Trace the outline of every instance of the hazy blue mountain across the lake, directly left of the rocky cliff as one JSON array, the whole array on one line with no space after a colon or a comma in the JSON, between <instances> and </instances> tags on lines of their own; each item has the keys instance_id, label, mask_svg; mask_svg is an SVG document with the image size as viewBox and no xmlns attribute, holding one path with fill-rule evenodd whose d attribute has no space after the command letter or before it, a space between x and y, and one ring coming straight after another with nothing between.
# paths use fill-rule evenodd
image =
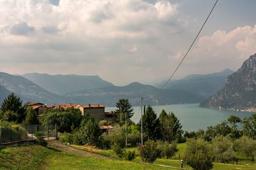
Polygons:
<instances>
[{"instance_id":1,"label":"hazy blue mountain across the lake, directly left of the rocky cliff","mask_svg":"<svg viewBox=\"0 0 256 170\"><path fill-rule=\"evenodd\" d=\"M193 94L203 96L206 99L218 92L225 83L225 78L232 73L234 73L234 71L225 69L220 73L191 74L180 80L170 81L165 89L185 90ZM166 81L163 81L154 86L159 88L163 87L165 82Z\"/></svg>"}]
</instances>

